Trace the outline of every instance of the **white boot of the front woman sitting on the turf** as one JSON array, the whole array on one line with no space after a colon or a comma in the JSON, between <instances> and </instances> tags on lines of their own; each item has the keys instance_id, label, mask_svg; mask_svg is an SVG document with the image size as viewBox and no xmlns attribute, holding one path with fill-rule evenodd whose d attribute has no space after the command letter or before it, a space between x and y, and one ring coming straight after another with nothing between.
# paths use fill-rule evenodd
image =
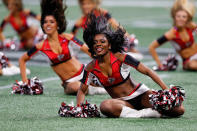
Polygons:
<instances>
[{"instance_id":1,"label":"white boot of the front woman sitting on the turf","mask_svg":"<svg viewBox=\"0 0 197 131\"><path fill-rule=\"evenodd\" d=\"M161 114L156 110L151 108L145 108L142 110L135 110L127 106L122 107L122 112L120 113L120 117L123 118L159 118Z\"/></svg>"}]
</instances>

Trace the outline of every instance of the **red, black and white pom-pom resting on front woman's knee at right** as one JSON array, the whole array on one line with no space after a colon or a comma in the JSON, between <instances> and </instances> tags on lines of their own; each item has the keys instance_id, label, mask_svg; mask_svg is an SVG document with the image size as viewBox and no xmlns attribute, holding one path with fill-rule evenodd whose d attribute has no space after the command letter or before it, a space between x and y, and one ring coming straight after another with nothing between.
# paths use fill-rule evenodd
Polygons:
<instances>
[{"instance_id":1,"label":"red, black and white pom-pom resting on front woman's knee at right","mask_svg":"<svg viewBox=\"0 0 197 131\"><path fill-rule=\"evenodd\" d=\"M149 102L157 111L168 111L180 106L185 99L185 90L180 86L171 86L169 90L152 91Z\"/></svg>"}]
</instances>

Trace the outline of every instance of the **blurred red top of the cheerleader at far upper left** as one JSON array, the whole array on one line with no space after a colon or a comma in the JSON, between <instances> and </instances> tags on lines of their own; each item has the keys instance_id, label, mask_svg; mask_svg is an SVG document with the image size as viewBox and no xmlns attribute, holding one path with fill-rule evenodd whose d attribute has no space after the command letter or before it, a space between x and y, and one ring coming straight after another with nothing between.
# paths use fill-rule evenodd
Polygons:
<instances>
[{"instance_id":1,"label":"blurred red top of the cheerleader at far upper left","mask_svg":"<svg viewBox=\"0 0 197 131\"><path fill-rule=\"evenodd\" d=\"M27 30L29 28L28 24L27 24L27 17L28 15L25 14L23 11L20 12L20 19L22 21L21 25L17 24L15 22L15 18L14 16L11 14L8 19L4 20L2 23L1 23L1 29L3 30L4 26L7 24L7 23L10 23L12 25L12 27L16 30L16 32L18 33L22 33L24 32L25 30Z\"/></svg>"}]
</instances>

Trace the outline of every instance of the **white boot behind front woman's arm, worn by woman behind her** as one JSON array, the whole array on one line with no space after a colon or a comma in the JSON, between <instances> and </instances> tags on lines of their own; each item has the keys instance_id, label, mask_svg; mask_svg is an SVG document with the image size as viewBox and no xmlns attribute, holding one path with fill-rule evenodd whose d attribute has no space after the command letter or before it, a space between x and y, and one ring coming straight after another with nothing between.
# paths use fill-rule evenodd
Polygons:
<instances>
[{"instance_id":1,"label":"white boot behind front woman's arm, worn by woman behind her","mask_svg":"<svg viewBox=\"0 0 197 131\"><path fill-rule=\"evenodd\" d=\"M89 85L88 94L89 95L102 95L102 94L107 94L107 91L103 87L94 87L94 86Z\"/></svg>"}]
</instances>

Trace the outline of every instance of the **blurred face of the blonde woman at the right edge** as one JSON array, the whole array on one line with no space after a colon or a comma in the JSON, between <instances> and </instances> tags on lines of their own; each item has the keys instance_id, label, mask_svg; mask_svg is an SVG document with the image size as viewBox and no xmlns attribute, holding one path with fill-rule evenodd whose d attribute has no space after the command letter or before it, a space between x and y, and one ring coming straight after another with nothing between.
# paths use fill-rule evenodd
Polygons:
<instances>
[{"instance_id":1,"label":"blurred face of the blonde woman at the right edge","mask_svg":"<svg viewBox=\"0 0 197 131\"><path fill-rule=\"evenodd\" d=\"M174 20L176 27L184 27L188 22L188 13L184 10L179 10L176 12Z\"/></svg>"}]
</instances>

